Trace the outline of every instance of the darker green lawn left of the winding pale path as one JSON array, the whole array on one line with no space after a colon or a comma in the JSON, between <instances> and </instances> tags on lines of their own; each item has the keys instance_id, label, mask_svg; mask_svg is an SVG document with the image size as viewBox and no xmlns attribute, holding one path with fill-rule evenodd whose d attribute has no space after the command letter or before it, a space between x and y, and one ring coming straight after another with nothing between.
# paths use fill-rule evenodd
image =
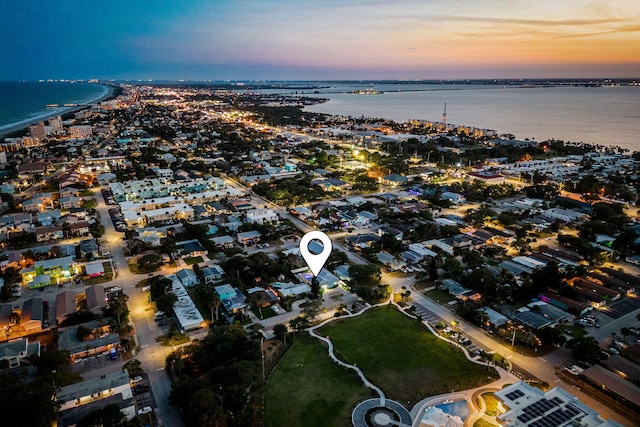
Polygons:
<instances>
[{"instance_id":1,"label":"darker green lawn left of the winding pale path","mask_svg":"<svg viewBox=\"0 0 640 427\"><path fill-rule=\"evenodd\" d=\"M351 425L353 406L371 396L355 372L331 362L320 341L298 336L267 382L265 426Z\"/></svg>"}]
</instances>

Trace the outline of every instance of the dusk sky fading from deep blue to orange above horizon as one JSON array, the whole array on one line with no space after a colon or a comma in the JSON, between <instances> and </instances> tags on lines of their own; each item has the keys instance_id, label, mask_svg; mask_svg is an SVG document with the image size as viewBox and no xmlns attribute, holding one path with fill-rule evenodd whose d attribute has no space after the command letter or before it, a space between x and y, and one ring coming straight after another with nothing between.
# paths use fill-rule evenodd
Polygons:
<instances>
[{"instance_id":1,"label":"dusk sky fading from deep blue to orange above horizon","mask_svg":"<svg viewBox=\"0 0 640 427\"><path fill-rule=\"evenodd\" d=\"M0 80L624 77L637 0L0 2Z\"/></svg>"}]
</instances>

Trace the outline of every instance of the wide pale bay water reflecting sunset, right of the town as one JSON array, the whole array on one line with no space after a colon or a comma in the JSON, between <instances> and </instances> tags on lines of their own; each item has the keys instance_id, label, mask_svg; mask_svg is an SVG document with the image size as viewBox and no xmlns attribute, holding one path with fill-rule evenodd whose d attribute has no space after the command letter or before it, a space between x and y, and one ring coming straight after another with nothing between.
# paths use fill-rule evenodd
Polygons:
<instances>
[{"instance_id":1,"label":"wide pale bay water reflecting sunset, right of the town","mask_svg":"<svg viewBox=\"0 0 640 427\"><path fill-rule=\"evenodd\" d=\"M516 138L560 139L640 151L640 86L513 87L427 84L331 84L308 96L329 101L307 111L395 121L441 121ZM371 88L378 95L347 93Z\"/></svg>"}]
</instances>

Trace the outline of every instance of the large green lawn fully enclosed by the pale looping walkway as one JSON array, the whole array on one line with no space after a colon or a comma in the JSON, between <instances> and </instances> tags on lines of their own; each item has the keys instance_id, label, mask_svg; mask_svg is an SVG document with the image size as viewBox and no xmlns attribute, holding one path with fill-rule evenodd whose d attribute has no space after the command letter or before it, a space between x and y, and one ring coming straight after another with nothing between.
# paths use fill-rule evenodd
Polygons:
<instances>
[{"instance_id":1,"label":"large green lawn fully enclosed by the pale looping walkway","mask_svg":"<svg viewBox=\"0 0 640 427\"><path fill-rule=\"evenodd\" d=\"M386 306L322 327L336 354L355 363L387 396L412 404L452 389L463 390L497 378L495 370L469 362L421 323Z\"/></svg>"}]
</instances>

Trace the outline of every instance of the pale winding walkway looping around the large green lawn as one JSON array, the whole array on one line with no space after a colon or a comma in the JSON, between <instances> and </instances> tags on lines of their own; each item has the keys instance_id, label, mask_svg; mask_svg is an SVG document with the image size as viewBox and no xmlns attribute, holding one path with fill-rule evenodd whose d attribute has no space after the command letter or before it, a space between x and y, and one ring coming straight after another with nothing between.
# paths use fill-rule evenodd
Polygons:
<instances>
[{"instance_id":1,"label":"pale winding walkway looping around the large green lawn","mask_svg":"<svg viewBox=\"0 0 640 427\"><path fill-rule=\"evenodd\" d=\"M396 412L398 415L400 415L401 420L402 420L402 424L399 425L413 425L413 426L419 426L422 420L422 416L424 414L424 412L429 409L432 406L435 405L439 405L441 403L444 402L449 402L452 400L462 400L465 399L467 401L467 407L470 410L470 414L469 416L467 416L467 418L464 421L464 425L465 426L472 426L473 423L475 423L476 420L478 420L479 418L482 418L484 416L484 412L486 410L486 403L484 402L484 399L478 399L479 396L482 393L486 393L486 392L491 392L491 391L497 391L500 390L503 386L507 385L507 384L512 384L514 382L519 381L519 379L514 376L513 374L505 371L504 369L500 368L500 367L494 367L497 372L498 375L500 375L500 379L492 382L491 384L487 384L475 389L470 389L470 390L463 390L463 391L457 391L457 392L452 392L452 393L445 393L445 394L441 394L441 395L437 395L437 396L430 396L428 398L425 398L423 400L421 400L420 402L416 403L413 408L411 409L411 412L408 413L406 408L404 408L400 403L392 401L392 400L388 400L385 397L384 392L382 391L382 389L378 386L376 386L375 384L373 384L371 381L369 381L364 373L362 372L362 370L360 368L358 368L355 365L350 365L346 362L343 362L342 360L338 359L338 357L335 355L334 352L334 347L333 347L333 342L328 338L328 337L323 337L320 336L316 333L316 329L323 327L324 325L326 325L329 322L333 322L334 320L338 320L338 319L345 319L345 318L349 318L349 317L355 317L355 316L359 316L362 313L364 313L365 311L369 310L370 308L374 308L374 307L382 307L385 305L394 305L396 308L398 308L398 310L403 313L405 316L412 318L414 320L417 320L417 317L407 313L405 310L403 310L397 303L393 302L393 294L391 295L391 297L389 298L388 301L385 301L383 303L380 304L376 304L376 305L366 305L362 310L356 312L356 313L351 313L348 314L346 316L340 316L340 317L333 317L333 318L329 318L323 322L320 322L319 324L312 326L311 328L308 328L307 331L309 332L309 335L325 342L328 346L328 351L329 351L329 357L331 357L331 359L336 362L338 365L343 366L347 369L351 369L353 371L355 371L358 376L360 377L360 379L362 380L362 382L364 383L365 386L369 387L370 389L374 390L376 393L378 393L378 395L380 396L379 399L368 399L365 400L363 402L361 402L360 404L358 404L356 406L356 408L354 409L353 413L352 413L352 422L353 425L356 427L365 427L365 421L364 421L364 416L366 415L367 411L375 408L375 407L385 407L388 409L393 410L394 412ZM487 363L485 362L480 362L476 359L473 359L471 357L471 355L469 354L469 351L462 345L460 345L457 342L451 341L443 336L441 336L440 334L437 333L437 331L435 329L433 329L433 327L429 324L429 322L427 321L422 321L422 324L425 325L427 327L427 329L429 329L429 331L434 334L436 337L438 337L441 340L444 340L446 342L448 342L449 344L455 345L456 347L458 347L460 350L462 350L463 354L465 355L465 357L473 362L476 363L478 365L484 365L484 366L488 366ZM476 402L480 402L480 406L477 406ZM377 402L377 403L376 403ZM409 418L407 418L407 415Z\"/></svg>"}]
</instances>

